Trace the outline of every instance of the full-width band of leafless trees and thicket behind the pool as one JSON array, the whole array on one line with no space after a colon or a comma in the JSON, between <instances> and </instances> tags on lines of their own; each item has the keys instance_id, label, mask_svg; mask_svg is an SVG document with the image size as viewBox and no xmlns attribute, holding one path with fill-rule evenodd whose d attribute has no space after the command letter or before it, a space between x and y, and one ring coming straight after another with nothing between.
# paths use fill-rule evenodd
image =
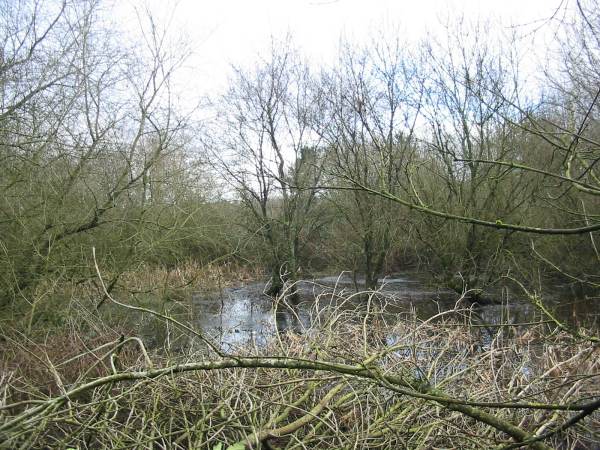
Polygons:
<instances>
[{"instance_id":1,"label":"full-width band of leafless trees and thicket behind the pool","mask_svg":"<svg viewBox=\"0 0 600 450\"><path fill-rule=\"evenodd\" d=\"M274 44L198 129L171 88L185 47L150 17L124 45L101 6L0 12L4 307L93 277L92 247L111 287L217 258L262 267L272 293L326 270L375 288L415 265L459 290L538 269L597 285L593 9L559 25L535 80L483 25L345 44L327 67Z\"/></svg>"}]
</instances>

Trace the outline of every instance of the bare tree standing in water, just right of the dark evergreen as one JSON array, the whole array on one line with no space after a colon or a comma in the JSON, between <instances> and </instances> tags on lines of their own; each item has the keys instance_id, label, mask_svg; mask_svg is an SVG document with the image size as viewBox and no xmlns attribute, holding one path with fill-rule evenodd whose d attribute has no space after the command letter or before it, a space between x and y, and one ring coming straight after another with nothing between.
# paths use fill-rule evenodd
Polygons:
<instances>
[{"instance_id":1,"label":"bare tree standing in water, just right of the dark evergreen","mask_svg":"<svg viewBox=\"0 0 600 450\"><path fill-rule=\"evenodd\" d=\"M406 189L421 86L399 40L371 50L346 45L340 66L323 80L327 125L320 132L327 143L331 182L338 188L359 188L330 198L354 236L360 254L355 269L365 274L368 289L376 288L399 231L409 227L398 220L389 200L376 199L360 187L394 193Z\"/></svg>"}]
</instances>

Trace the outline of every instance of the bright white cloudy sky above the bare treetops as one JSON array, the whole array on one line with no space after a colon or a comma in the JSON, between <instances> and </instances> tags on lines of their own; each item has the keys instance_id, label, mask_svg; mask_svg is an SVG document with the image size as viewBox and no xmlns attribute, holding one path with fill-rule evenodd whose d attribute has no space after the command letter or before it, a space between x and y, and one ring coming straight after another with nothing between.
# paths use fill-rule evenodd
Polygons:
<instances>
[{"instance_id":1,"label":"bright white cloudy sky above the bare treetops","mask_svg":"<svg viewBox=\"0 0 600 450\"><path fill-rule=\"evenodd\" d=\"M553 40L549 19L561 0L123 0L115 4L124 27L136 26L135 9L145 5L168 24L174 39L185 39L191 55L177 83L194 97L222 91L231 65L246 65L268 52L271 40L286 34L316 64L335 58L342 37L366 43L382 29L407 41L427 33L441 36L449 18L490 20L517 31L524 53L540 57ZM535 33L534 33L535 31ZM532 37L536 41L532 41ZM543 58L543 56L541 57Z\"/></svg>"}]
</instances>

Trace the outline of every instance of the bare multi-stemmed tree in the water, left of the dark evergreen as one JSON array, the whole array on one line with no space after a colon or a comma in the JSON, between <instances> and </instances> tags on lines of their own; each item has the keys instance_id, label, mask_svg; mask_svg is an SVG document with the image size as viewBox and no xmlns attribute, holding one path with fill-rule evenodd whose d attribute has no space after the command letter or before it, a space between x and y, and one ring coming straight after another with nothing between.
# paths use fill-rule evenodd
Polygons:
<instances>
[{"instance_id":1,"label":"bare multi-stemmed tree in the water, left of the dark evergreen","mask_svg":"<svg viewBox=\"0 0 600 450\"><path fill-rule=\"evenodd\" d=\"M274 47L256 68L235 69L209 143L249 214L249 231L266 245L271 294L297 279L303 239L318 224L311 214L317 191L307 189L321 177L312 132L318 104L307 65L289 44Z\"/></svg>"}]
</instances>

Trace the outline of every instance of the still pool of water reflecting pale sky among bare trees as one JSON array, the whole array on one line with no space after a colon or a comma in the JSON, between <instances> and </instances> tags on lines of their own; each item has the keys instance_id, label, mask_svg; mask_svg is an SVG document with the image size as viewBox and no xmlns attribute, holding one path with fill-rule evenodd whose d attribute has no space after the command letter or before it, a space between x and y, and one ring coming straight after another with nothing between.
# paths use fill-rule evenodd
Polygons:
<instances>
[{"instance_id":1,"label":"still pool of water reflecting pale sky among bare trees","mask_svg":"<svg viewBox=\"0 0 600 450\"><path fill-rule=\"evenodd\" d=\"M392 324L413 314L419 319L429 319L458 306L461 312L453 313L455 318L459 316L461 320L490 332L493 332L494 325L543 320L540 311L523 295L508 289L498 291L498 303L495 304L473 305L464 299L457 304L459 296L455 292L427 287L424 280L414 273L385 278L378 292L370 297L356 295L355 282L348 275L299 283L293 287L299 293L295 303L285 297L274 302L263 293L264 288L264 283L250 283L218 292L195 294L192 304L197 325L229 351L248 344L261 346L277 332L289 329L303 332L311 325L326 323L333 314L343 314L344 320L363 320L369 311L375 313L380 322ZM597 326L600 323L600 308L597 307L600 302L573 298L566 289L556 289L546 297L561 320L575 325ZM386 336L386 339L391 343L396 337Z\"/></svg>"}]
</instances>

